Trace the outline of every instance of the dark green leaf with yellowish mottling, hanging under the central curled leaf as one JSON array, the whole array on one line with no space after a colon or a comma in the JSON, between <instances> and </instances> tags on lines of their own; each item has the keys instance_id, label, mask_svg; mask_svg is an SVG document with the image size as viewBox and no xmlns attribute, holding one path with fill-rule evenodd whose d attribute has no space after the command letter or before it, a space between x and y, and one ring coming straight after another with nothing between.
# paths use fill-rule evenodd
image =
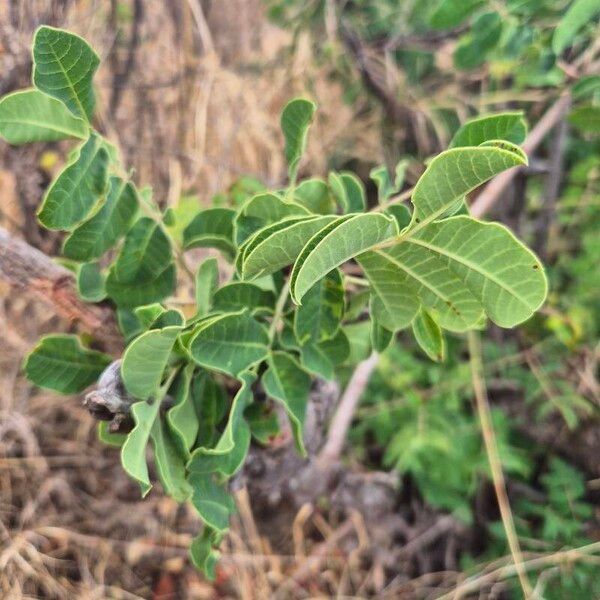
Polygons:
<instances>
[{"instance_id":1,"label":"dark green leaf with yellowish mottling, hanging under the central curled leaf","mask_svg":"<svg viewBox=\"0 0 600 600\"><path fill-rule=\"evenodd\" d=\"M332 338L344 313L344 286L338 269L317 281L294 314L294 333L300 344Z\"/></svg>"}]
</instances>

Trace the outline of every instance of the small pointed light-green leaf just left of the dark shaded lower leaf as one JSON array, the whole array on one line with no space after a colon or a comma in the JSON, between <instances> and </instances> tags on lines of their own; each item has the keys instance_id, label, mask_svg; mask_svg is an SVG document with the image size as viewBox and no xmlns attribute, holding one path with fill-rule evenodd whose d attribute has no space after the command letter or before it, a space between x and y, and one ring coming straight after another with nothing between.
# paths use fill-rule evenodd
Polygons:
<instances>
[{"instance_id":1,"label":"small pointed light-green leaf just left of the dark shaded lower leaf","mask_svg":"<svg viewBox=\"0 0 600 600\"><path fill-rule=\"evenodd\" d=\"M191 394L193 373L194 365L188 364L178 374L171 390L173 406L166 414L166 420L175 443L180 453L188 458L189 451L196 441L199 427L196 407Z\"/></svg>"}]
</instances>

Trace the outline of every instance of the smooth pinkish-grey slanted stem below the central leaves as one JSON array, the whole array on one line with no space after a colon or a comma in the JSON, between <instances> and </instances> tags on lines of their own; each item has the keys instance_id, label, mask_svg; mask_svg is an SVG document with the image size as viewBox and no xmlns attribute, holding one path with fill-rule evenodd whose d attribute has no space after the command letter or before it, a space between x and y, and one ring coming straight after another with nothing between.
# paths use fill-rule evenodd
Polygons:
<instances>
[{"instance_id":1,"label":"smooth pinkish-grey slanted stem below the central leaves","mask_svg":"<svg viewBox=\"0 0 600 600\"><path fill-rule=\"evenodd\" d=\"M329 426L327 442L319 452L318 460L321 464L331 464L339 459L358 401L365 391L378 361L379 354L373 352L369 358L360 362L352 373Z\"/></svg>"}]
</instances>

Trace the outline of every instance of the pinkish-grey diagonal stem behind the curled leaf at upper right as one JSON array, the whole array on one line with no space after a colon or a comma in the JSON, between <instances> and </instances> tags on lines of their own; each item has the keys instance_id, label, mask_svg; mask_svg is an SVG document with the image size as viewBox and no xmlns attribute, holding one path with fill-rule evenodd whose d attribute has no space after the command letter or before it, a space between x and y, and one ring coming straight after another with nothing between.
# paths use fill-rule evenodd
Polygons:
<instances>
[{"instance_id":1,"label":"pinkish-grey diagonal stem behind the curled leaf at upper right","mask_svg":"<svg viewBox=\"0 0 600 600\"><path fill-rule=\"evenodd\" d=\"M526 154L531 154L542 143L546 134L563 118L570 104L571 94L568 91L564 92L546 111L523 142L523 150ZM502 192L520 169L521 167L514 167L492 179L471 205L471 214L474 217L482 217L487 213L502 197Z\"/></svg>"}]
</instances>

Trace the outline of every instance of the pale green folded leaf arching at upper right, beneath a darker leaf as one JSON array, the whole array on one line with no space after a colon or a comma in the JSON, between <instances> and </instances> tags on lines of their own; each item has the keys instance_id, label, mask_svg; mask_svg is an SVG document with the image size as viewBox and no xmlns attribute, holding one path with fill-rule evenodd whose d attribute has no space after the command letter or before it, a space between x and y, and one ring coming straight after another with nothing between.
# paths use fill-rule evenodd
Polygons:
<instances>
[{"instance_id":1,"label":"pale green folded leaf arching at upper right, beneath a darker leaf","mask_svg":"<svg viewBox=\"0 0 600 600\"><path fill-rule=\"evenodd\" d=\"M421 175L412 195L417 221L433 221L494 175L527 164L523 152L509 142L476 148L452 148L436 156Z\"/></svg>"}]
</instances>

